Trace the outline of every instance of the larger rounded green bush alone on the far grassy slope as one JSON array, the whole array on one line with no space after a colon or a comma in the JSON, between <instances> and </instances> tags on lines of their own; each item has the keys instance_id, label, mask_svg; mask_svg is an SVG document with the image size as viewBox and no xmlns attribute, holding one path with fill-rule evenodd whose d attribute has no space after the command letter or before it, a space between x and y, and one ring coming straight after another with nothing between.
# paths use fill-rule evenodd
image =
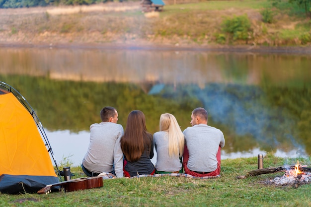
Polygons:
<instances>
[{"instance_id":1,"label":"larger rounded green bush alone on the far grassy slope","mask_svg":"<svg viewBox=\"0 0 311 207\"><path fill-rule=\"evenodd\" d=\"M247 41L249 33L251 32L251 24L246 14L225 19L221 27L222 31L232 35L233 41Z\"/></svg>"}]
</instances>

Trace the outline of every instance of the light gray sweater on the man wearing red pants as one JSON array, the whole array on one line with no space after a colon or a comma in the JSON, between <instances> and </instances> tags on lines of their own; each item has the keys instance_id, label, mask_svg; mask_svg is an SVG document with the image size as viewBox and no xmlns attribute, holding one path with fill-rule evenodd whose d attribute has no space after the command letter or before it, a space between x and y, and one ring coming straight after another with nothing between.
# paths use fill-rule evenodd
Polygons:
<instances>
[{"instance_id":1,"label":"light gray sweater on the man wearing red pants","mask_svg":"<svg viewBox=\"0 0 311 207\"><path fill-rule=\"evenodd\" d=\"M222 131L206 124L199 124L188 127L183 134L189 151L187 167L199 172L216 170L218 148L225 146Z\"/></svg>"}]
</instances>

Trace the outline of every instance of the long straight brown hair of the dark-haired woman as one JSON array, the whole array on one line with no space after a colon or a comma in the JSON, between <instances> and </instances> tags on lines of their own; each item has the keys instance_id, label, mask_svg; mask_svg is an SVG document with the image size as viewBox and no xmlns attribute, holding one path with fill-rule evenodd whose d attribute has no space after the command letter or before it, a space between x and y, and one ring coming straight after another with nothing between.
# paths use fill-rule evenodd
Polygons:
<instances>
[{"instance_id":1,"label":"long straight brown hair of the dark-haired woman","mask_svg":"<svg viewBox=\"0 0 311 207\"><path fill-rule=\"evenodd\" d=\"M128 161L139 160L145 150L144 143L151 146L150 135L147 132L144 113L139 110L132 111L127 119L124 136L121 138L121 149Z\"/></svg>"}]
</instances>

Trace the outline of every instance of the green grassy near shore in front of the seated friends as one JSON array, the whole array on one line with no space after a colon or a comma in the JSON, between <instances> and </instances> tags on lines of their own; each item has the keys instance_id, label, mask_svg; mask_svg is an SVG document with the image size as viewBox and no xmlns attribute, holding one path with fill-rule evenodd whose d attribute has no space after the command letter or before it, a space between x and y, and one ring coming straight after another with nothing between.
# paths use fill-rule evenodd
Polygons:
<instances>
[{"instance_id":1,"label":"green grassy near shore in front of the seated friends","mask_svg":"<svg viewBox=\"0 0 311 207\"><path fill-rule=\"evenodd\" d=\"M300 164L310 165L306 158L264 157L264 167ZM191 179L184 177L143 177L104 180L104 186L77 192L52 192L48 195L0 194L2 207L310 207L310 184L276 186L270 180L284 172L245 175L257 169L257 157L222 160L221 178ZM79 167L72 167L83 176Z\"/></svg>"}]
</instances>

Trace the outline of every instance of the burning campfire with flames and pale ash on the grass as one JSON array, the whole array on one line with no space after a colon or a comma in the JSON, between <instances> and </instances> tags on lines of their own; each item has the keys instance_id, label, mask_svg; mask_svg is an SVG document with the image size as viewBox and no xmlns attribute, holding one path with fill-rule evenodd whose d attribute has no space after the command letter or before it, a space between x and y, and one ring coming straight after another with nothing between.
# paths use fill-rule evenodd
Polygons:
<instances>
[{"instance_id":1,"label":"burning campfire with flames and pale ash on the grass","mask_svg":"<svg viewBox=\"0 0 311 207\"><path fill-rule=\"evenodd\" d=\"M276 177L270 181L278 186L294 187L311 182L311 173L308 172L309 168L307 168L307 165L300 165L298 160L295 168L288 166L285 169L285 174L282 177Z\"/></svg>"}]
</instances>

